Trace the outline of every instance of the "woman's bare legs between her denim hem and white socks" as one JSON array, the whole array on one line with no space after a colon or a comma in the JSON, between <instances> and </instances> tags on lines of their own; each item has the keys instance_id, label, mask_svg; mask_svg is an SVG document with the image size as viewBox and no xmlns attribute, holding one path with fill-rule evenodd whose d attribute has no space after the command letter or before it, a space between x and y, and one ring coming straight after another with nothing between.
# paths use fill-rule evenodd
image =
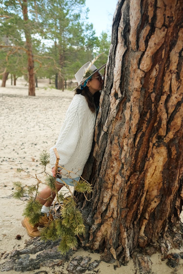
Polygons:
<instances>
[{"instance_id":1,"label":"woman's bare legs between her denim hem and white socks","mask_svg":"<svg viewBox=\"0 0 183 274\"><path fill-rule=\"evenodd\" d=\"M57 191L59 191L63 186L64 185L57 184L56 182ZM41 190L41 192L39 193L39 196L36 197L36 201L39 201L44 206L50 207L53 200L55 199L56 194L52 193L52 197L49 199L49 201L46 201L46 199L50 196L51 196L51 189L48 186L46 186L44 187L44 189Z\"/></svg>"}]
</instances>

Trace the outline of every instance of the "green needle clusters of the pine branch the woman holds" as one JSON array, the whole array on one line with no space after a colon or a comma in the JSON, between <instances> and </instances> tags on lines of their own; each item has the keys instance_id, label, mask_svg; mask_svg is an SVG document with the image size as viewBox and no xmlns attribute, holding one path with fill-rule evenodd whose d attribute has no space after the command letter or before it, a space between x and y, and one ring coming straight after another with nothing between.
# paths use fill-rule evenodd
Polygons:
<instances>
[{"instance_id":1,"label":"green needle clusters of the pine branch the woman holds","mask_svg":"<svg viewBox=\"0 0 183 274\"><path fill-rule=\"evenodd\" d=\"M40 161L42 161L44 167L48 159L48 153L42 152L40 155ZM18 172L25 171L22 168L18 169ZM45 169L44 172L46 173ZM55 178L51 175L47 175L46 183L50 189L55 192ZM35 177L38 180L37 176ZM23 215L29 219L29 222L35 226L42 217L41 208L42 204L36 201L36 195L38 194L38 187L41 181L38 180L37 184L31 186L23 186L21 182L14 182L15 192L14 197L20 198L25 193L30 195L29 201L26 203L26 207L23 211ZM69 187L69 186L68 186ZM92 191L91 185L86 181L79 181L75 187L78 192ZM69 249L73 249L77 246L77 239L75 235L85 234L85 225L81 212L77 209L77 204L73 196L64 197L62 193L58 194L58 203L62 202L60 217L50 220L49 224L41 230L41 238L44 241L52 240L56 241L61 238L61 242L58 250L62 254L65 254Z\"/></svg>"}]
</instances>

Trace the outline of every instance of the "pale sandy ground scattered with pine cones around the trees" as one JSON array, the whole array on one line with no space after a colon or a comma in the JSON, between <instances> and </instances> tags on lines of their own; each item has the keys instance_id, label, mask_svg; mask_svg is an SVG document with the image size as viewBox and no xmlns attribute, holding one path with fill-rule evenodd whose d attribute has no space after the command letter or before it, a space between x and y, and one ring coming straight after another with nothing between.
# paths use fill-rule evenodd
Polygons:
<instances>
[{"instance_id":1,"label":"pale sandy ground scattered with pine cones around the trees","mask_svg":"<svg viewBox=\"0 0 183 274\"><path fill-rule=\"evenodd\" d=\"M21 181L23 184L35 183L35 179L25 173L16 173L16 169L22 166L31 174L40 172L39 154L42 150L49 151L55 144L60 126L64 121L65 112L73 98L71 91L60 91L50 89L48 80L38 81L36 96L27 96L28 87L23 79L17 81L16 87L7 81L6 87L0 87L0 201L1 201L1 221L0 221L0 254L13 249L22 249L25 241L30 239L26 230L21 226L22 211L25 202L12 198L13 182ZM0 81L1 86L1 81ZM43 179L40 177L40 179ZM16 240L17 234L21 235L21 240ZM96 253L86 252L79 249L74 256L89 255L92 259L100 259ZM166 265L166 261L161 261L160 254L151 256L151 273L175 273ZM1 259L0 264L3 262ZM176 269L176 273L181 271L182 262ZM66 269L67 265L65 266ZM43 268L40 268L41 271ZM100 274L107 273L135 273L133 261L130 260L127 266L122 266L114 270L113 264L100 262ZM96 270L97 270L96 269ZM49 267L44 267L48 273L52 273ZM55 267L59 270L59 267ZM36 273L38 270L27 273ZM17 273L9 271L8 273ZM66 270L64 273L68 273ZM87 272L86 272L87 273Z\"/></svg>"}]
</instances>

